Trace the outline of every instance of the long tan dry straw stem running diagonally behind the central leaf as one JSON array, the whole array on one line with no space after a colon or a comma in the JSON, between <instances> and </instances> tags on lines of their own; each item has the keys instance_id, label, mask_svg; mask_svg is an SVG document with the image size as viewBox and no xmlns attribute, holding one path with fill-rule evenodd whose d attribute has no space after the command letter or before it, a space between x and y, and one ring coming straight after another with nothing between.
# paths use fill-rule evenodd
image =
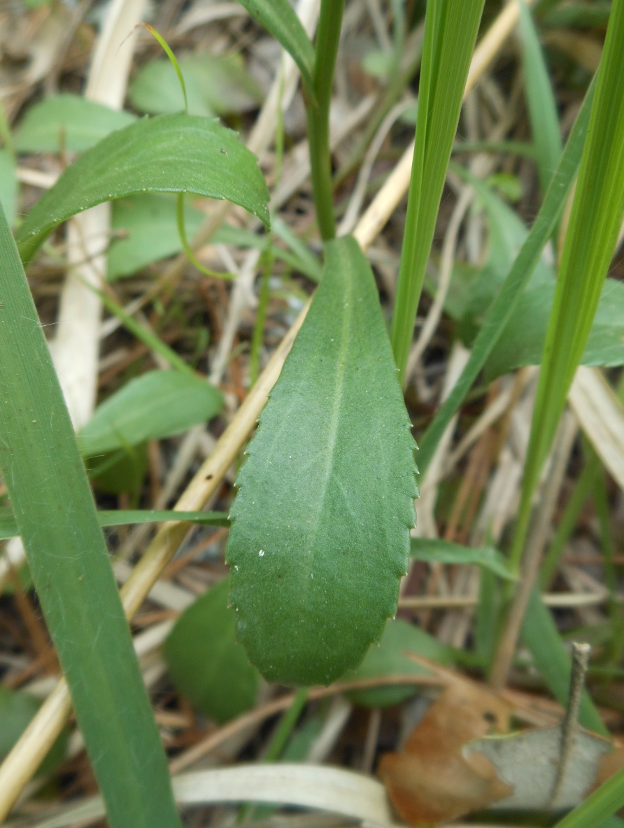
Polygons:
<instances>
[{"instance_id":1,"label":"long tan dry straw stem running diagonally behind the central leaf","mask_svg":"<svg viewBox=\"0 0 624 828\"><path fill-rule=\"evenodd\" d=\"M535 2L535 0L530 0L530 2ZM494 59L506 37L510 35L518 21L519 14L518 2L510 3L501 12L496 22L491 26L490 31L477 46L468 73L464 99L472 91L491 60ZM398 166L389 176L388 181L381 188L356 227L354 235L363 249L368 248L377 234L380 233L390 214L407 191L413 152L414 146L412 145L404 153ZM273 388L273 384L279 376L283 361L286 359L297 331L302 325L308 306L309 303L297 317L296 322L288 331L278 349L276 349L258 382L251 389L249 396L245 399L239 411L236 412L230 426L221 436L213 454L201 466L189 487L182 494L175 507L177 511L203 508L208 498L216 491L220 480L236 455L238 455L264 407L268 392ZM152 585L175 555L187 531L187 524L170 522L162 527L150 543L142 560L133 571L133 575L121 590L123 607L128 618L132 617L143 603L149 590L152 589ZM0 821L7 816L23 787L36 772L36 768L46 755L47 749L53 744L56 736L60 733L60 729L65 724L69 710L69 691L65 681L61 679L55 691L41 705L41 709L31 721L27 731L0 766Z\"/></svg>"}]
</instances>

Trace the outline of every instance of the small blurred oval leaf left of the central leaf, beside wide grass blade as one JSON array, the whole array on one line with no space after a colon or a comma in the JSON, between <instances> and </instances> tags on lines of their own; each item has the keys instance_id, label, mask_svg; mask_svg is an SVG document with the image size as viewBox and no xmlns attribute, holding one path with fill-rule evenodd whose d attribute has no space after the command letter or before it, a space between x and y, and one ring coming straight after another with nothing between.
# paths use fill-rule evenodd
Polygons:
<instances>
[{"instance_id":1,"label":"small blurred oval leaf left of the central leaf, beside wide grass blade","mask_svg":"<svg viewBox=\"0 0 624 828\"><path fill-rule=\"evenodd\" d=\"M95 409L78 445L85 457L93 457L160 440L210 420L222 405L220 391L206 380L179 371L150 371Z\"/></svg>"}]
</instances>

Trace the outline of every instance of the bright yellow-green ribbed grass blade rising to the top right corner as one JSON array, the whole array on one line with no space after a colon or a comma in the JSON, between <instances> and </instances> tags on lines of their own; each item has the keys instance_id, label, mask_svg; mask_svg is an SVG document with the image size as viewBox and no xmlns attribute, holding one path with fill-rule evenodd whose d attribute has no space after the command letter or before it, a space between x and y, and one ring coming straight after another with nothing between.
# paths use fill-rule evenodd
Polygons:
<instances>
[{"instance_id":1,"label":"bright yellow-green ribbed grass blade rising to the top right corner","mask_svg":"<svg viewBox=\"0 0 624 828\"><path fill-rule=\"evenodd\" d=\"M517 570L535 488L588 340L624 214L624 0L614 0L578 185L559 266L531 422L518 521L510 551ZM505 628L491 681L504 683L518 629Z\"/></svg>"}]
</instances>

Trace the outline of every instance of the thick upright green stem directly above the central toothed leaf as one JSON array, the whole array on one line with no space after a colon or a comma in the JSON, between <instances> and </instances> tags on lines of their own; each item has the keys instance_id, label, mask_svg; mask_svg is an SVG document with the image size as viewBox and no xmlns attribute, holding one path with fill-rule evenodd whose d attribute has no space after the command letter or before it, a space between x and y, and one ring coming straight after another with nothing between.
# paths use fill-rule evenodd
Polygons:
<instances>
[{"instance_id":1,"label":"thick upright green stem directly above the central toothed leaf","mask_svg":"<svg viewBox=\"0 0 624 828\"><path fill-rule=\"evenodd\" d=\"M342 12L345 0L322 0L318 21L316 59L314 61L314 94L316 105L306 102L307 137L310 144L312 194L317 210L318 229L324 241L336 236L333 188L331 185L331 152L329 148L329 107L331 88L340 43Z\"/></svg>"}]
</instances>

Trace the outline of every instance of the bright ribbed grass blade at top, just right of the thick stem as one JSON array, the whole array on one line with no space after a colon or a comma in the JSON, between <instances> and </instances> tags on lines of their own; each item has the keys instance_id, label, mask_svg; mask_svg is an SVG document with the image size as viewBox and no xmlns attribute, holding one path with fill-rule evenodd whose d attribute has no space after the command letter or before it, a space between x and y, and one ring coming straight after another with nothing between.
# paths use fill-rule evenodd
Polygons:
<instances>
[{"instance_id":1,"label":"bright ribbed grass blade at top, just right of the thick stem","mask_svg":"<svg viewBox=\"0 0 624 828\"><path fill-rule=\"evenodd\" d=\"M412 177L390 339L404 379L483 0L428 3Z\"/></svg>"}]
</instances>

